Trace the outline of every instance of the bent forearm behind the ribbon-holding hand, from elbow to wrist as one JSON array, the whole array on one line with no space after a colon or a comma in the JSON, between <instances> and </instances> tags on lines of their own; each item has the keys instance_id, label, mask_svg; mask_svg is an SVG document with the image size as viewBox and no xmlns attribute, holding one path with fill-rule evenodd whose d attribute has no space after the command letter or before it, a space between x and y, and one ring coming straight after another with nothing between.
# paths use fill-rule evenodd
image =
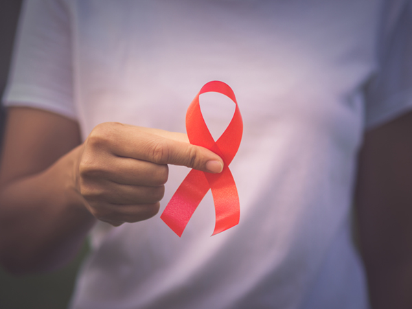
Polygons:
<instances>
[{"instance_id":1,"label":"bent forearm behind the ribbon-holding hand, from elbow to wrist","mask_svg":"<svg viewBox=\"0 0 412 309\"><path fill-rule=\"evenodd\" d=\"M43 172L1 185L0 258L13 273L61 266L92 227L73 172L81 148Z\"/></svg>"}]
</instances>

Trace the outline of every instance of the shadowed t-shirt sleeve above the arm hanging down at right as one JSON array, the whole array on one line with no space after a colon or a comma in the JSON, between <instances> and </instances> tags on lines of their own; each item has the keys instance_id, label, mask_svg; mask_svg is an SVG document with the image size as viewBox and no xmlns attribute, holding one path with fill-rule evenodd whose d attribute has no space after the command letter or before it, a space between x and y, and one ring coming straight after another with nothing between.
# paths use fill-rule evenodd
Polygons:
<instances>
[{"instance_id":1,"label":"shadowed t-shirt sleeve above the arm hanging down at right","mask_svg":"<svg viewBox=\"0 0 412 309\"><path fill-rule=\"evenodd\" d=\"M378 52L378 72L367 85L365 93L367 129L412 109L411 1L403 1L403 5L387 10Z\"/></svg>"}]
</instances>

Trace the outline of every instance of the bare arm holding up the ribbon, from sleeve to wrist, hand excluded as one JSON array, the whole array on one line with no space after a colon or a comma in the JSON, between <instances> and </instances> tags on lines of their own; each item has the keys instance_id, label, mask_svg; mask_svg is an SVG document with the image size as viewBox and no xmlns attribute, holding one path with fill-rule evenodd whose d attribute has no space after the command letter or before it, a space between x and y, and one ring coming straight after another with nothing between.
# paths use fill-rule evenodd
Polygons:
<instances>
[{"instance_id":1,"label":"bare arm holding up the ribbon, from sleeve to wrist, hand excluded","mask_svg":"<svg viewBox=\"0 0 412 309\"><path fill-rule=\"evenodd\" d=\"M66 155L78 145L76 122L10 108L0 174L1 260L10 271L54 268L49 253L66 262L93 224L72 185L76 156Z\"/></svg>"}]
</instances>

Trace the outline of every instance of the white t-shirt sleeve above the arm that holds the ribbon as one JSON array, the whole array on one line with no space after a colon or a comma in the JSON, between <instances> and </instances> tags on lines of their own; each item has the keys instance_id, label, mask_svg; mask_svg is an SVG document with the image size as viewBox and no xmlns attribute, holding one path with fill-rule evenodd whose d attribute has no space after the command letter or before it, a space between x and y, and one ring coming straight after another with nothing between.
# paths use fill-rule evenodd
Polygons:
<instances>
[{"instance_id":1,"label":"white t-shirt sleeve above the arm that holds the ribbon","mask_svg":"<svg viewBox=\"0 0 412 309\"><path fill-rule=\"evenodd\" d=\"M3 104L41 108L76 119L71 54L65 4L25 1Z\"/></svg>"}]
</instances>

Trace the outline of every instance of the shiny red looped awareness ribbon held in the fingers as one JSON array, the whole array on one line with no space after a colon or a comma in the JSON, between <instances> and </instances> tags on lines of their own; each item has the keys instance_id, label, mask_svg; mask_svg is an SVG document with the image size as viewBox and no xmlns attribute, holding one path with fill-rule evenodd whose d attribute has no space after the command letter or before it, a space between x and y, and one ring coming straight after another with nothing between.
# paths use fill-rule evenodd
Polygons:
<instances>
[{"instance_id":1,"label":"shiny red looped awareness ribbon held in the fingers","mask_svg":"<svg viewBox=\"0 0 412 309\"><path fill-rule=\"evenodd\" d=\"M211 136L199 105L199 95L207 92L222 93L236 104L229 126L217 141L214 141ZM243 133L242 116L233 90L224 82L213 81L205 84L187 108L186 130L190 144L215 152L223 159L224 167L219 174L192 169L172 196L160 218L181 237L187 222L205 194L211 189L216 211L216 225L212 234L215 235L237 225L240 218L238 190L229 170L229 164L238 152Z\"/></svg>"}]
</instances>

